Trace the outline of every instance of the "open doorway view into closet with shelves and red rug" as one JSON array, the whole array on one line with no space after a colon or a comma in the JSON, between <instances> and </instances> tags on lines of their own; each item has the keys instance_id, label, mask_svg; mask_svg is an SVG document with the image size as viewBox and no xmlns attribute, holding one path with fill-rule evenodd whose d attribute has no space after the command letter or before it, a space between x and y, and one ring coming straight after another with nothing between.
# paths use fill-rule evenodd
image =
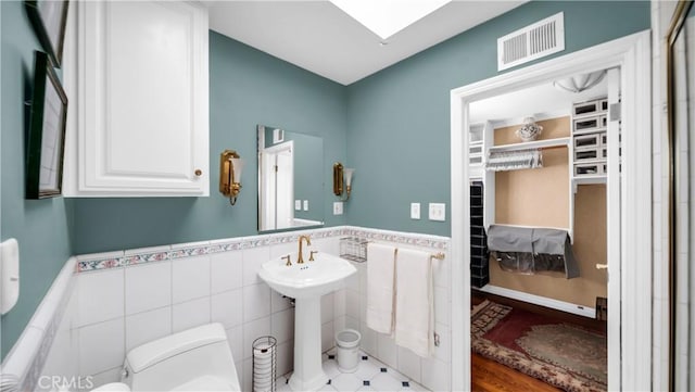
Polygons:
<instances>
[{"instance_id":1,"label":"open doorway view into closet with shelves and red rug","mask_svg":"<svg viewBox=\"0 0 695 392\"><path fill-rule=\"evenodd\" d=\"M607 182L619 165L608 155L620 135L608 103L619 102L619 84L618 68L599 69L469 104L476 390L490 382L517 389L532 378L560 389L607 389L606 319L618 314L594 318L596 303L609 298L608 243L619 242L607 232ZM539 162L523 161L529 152ZM619 299L614 291L610 300ZM602 308L619 306L612 302ZM515 380L495 362L531 379Z\"/></svg>"}]
</instances>

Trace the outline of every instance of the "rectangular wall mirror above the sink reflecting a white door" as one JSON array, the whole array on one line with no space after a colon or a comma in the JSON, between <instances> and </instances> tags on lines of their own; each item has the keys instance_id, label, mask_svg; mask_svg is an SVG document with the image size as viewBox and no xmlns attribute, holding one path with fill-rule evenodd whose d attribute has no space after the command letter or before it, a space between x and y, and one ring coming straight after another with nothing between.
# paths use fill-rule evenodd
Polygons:
<instances>
[{"instance_id":1,"label":"rectangular wall mirror above the sink reflecting a white door","mask_svg":"<svg viewBox=\"0 0 695 392\"><path fill-rule=\"evenodd\" d=\"M258 231L324 225L324 139L258 125Z\"/></svg>"}]
</instances>

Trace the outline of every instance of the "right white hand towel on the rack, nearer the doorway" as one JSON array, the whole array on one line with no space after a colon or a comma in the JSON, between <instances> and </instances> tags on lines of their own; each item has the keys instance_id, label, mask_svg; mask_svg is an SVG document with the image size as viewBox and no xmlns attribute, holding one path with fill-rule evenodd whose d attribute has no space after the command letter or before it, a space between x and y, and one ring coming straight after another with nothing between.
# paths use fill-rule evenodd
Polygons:
<instances>
[{"instance_id":1,"label":"right white hand towel on the rack, nearer the doorway","mask_svg":"<svg viewBox=\"0 0 695 392\"><path fill-rule=\"evenodd\" d=\"M433 294L430 254L400 249L395 273L395 344L429 357L433 346Z\"/></svg>"}]
</instances>

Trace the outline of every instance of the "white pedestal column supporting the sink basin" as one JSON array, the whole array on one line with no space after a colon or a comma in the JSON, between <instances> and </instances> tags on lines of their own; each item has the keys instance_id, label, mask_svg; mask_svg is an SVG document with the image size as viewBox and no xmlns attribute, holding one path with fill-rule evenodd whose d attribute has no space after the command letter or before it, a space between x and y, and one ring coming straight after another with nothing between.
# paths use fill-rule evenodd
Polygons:
<instances>
[{"instance_id":1,"label":"white pedestal column supporting the sink basin","mask_svg":"<svg viewBox=\"0 0 695 392\"><path fill-rule=\"evenodd\" d=\"M316 391L328 382L321 367L321 298L294 300L294 372L292 391Z\"/></svg>"}]
</instances>

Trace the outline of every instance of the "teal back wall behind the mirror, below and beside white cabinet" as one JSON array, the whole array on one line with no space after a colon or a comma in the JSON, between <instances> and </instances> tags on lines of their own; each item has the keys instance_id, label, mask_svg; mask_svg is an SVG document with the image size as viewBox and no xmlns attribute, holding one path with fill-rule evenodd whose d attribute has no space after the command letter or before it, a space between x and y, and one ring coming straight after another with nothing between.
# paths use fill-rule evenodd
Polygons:
<instances>
[{"instance_id":1,"label":"teal back wall behind the mirror, below and beside white cabinet","mask_svg":"<svg viewBox=\"0 0 695 392\"><path fill-rule=\"evenodd\" d=\"M210 198L78 199L76 254L257 233L256 125L320 136L326 226L332 215L332 162L345 160L344 86L210 33ZM218 192L219 153L237 150L247 165L235 206ZM309 207L313 207L309 205Z\"/></svg>"}]
</instances>

